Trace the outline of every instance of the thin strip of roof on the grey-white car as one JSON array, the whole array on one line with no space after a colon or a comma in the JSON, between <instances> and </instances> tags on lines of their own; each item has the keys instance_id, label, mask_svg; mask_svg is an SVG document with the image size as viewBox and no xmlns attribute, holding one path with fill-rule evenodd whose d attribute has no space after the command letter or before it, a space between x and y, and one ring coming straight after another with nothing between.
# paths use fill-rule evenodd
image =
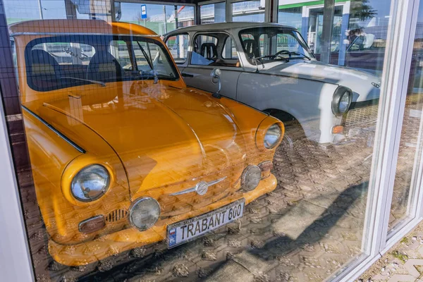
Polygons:
<instances>
[{"instance_id":1,"label":"thin strip of roof on the grey-white car","mask_svg":"<svg viewBox=\"0 0 423 282\"><path fill-rule=\"evenodd\" d=\"M284 27L290 30L296 30L295 27L292 27L289 25L281 25L280 23L251 23L251 22L205 23L204 25L191 25L189 27L180 27L177 30L168 32L167 35L180 33L180 32L239 30L239 29L247 29L252 27Z\"/></svg>"}]
</instances>

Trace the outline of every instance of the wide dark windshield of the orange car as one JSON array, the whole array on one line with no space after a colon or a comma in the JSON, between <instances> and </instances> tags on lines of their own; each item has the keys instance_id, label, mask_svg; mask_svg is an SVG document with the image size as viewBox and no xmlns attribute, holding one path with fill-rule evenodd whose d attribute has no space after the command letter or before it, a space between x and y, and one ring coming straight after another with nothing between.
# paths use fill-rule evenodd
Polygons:
<instances>
[{"instance_id":1,"label":"wide dark windshield of the orange car","mask_svg":"<svg viewBox=\"0 0 423 282\"><path fill-rule=\"evenodd\" d=\"M177 80L161 42L130 35L66 35L32 40L27 84L37 91L125 80Z\"/></svg>"}]
</instances>

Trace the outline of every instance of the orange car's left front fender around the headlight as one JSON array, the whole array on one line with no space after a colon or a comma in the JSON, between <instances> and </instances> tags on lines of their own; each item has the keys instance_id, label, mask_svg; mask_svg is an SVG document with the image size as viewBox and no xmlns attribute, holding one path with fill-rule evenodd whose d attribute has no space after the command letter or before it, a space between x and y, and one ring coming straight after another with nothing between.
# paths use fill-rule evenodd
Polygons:
<instances>
[{"instance_id":1,"label":"orange car's left front fender around the headlight","mask_svg":"<svg viewBox=\"0 0 423 282\"><path fill-rule=\"evenodd\" d=\"M63 118L66 120L66 116L61 114L47 122L71 140L78 140L77 143L85 149L85 154L69 145L27 111L23 111L23 118L37 203L51 239L56 243L75 244L123 228L125 221L106 222L102 230L90 234L80 233L78 229L79 223L85 219L99 214L106 217L116 209L127 210L129 207L128 180L113 149L85 125L73 123L68 125L73 128L73 133L66 132L66 128L61 126L61 121L63 122ZM79 138L75 136L76 132L79 133ZM89 203L68 197L71 178L63 181L63 176L74 176L81 168L92 163L104 164L110 168L114 182L109 190L99 200Z\"/></svg>"}]
</instances>

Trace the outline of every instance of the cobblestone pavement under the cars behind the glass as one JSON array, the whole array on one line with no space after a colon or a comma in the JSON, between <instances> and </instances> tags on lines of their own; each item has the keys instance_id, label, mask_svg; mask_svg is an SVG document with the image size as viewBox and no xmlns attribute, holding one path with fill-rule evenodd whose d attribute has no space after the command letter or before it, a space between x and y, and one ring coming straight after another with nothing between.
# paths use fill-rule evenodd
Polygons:
<instances>
[{"instance_id":1,"label":"cobblestone pavement under the cars behind the glass","mask_svg":"<svg viewBox=\"0 0 423 282\"><path fill-rule=\"evenodd\" d=\"M406 124L418 128L419 118ZM293 149L281 145L273 171L278 187L247 205L242 219L172 250L161 242L80 267L49 257L30 176L23 171L21 195L37 280L324 281L361 252L373 142L374 130L362 130L343 145L320 147L304 138ZM415 141L402 142L404 151L410 142ZM400 204L393 207L392 224L404 214L414 159L400 156L394 200Z\"/></svg>"}]
</instances>

